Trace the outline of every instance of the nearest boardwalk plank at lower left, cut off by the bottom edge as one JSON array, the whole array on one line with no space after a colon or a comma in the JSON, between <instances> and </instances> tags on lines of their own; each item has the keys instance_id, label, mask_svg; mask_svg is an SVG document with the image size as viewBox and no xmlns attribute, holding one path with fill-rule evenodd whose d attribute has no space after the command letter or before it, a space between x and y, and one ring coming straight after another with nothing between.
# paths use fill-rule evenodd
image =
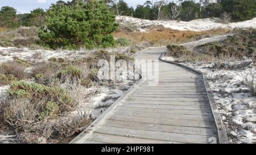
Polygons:
<instances>
[{"instance_id":1,"label":"nearest boardwalk plank at lower left, cut off by the bottom edge","mask_svg":"<svg viewBox=\"0 0 256 155\"><path fill-rule=\"evenodd\" d=\"M126 136L114 136L107 133L93 133L89 140L99 141L100 143L112 143L112 144L177 144L172 141L151 140L151 139L139 139Z\"/></svg>"}]
</instances>

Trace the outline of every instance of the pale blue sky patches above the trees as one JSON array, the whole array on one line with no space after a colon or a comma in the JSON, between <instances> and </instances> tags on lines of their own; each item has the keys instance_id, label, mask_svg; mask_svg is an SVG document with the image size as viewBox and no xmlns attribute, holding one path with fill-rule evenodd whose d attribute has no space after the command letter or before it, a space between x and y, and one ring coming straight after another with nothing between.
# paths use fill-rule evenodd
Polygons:
<instances>
[{"instance_id":1,"label":"pale blue sky patches above the trees","mask_svg":"<svg viewBox=\"0 0 256 155\"><path fill-rule=\"evenodd\" d=\"M0 0L0 7L11 6L14 7L18 13L30 12L36 8L48 9L51 3L58 0ZM68 1L68 0L64 0ZM139 4L146 2L146 0L126 0L129 6L136 7Z\"/></svg>"}]
</instances>

